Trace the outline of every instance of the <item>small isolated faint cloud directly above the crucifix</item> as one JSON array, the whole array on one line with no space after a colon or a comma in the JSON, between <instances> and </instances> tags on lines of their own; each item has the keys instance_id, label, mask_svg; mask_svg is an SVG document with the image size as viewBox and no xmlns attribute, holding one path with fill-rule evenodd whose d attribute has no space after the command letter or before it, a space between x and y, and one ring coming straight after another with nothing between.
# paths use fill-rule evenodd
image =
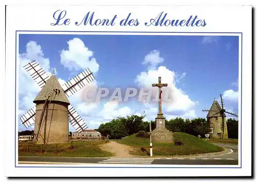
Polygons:
<instances>
[{"instance_id":1,"label":"small isolated faint cloud directly above the crucifix","mask_svg":"<svg viewBox=\"0 0 257 182\"><path fill-rule=\"evenodd\" d=\"M153 50L144 57L143 65L148 65L148 69L156 69L156 66L162 63L164 59L160 57L160 52L158 50Z\"/></svg>"}]
</instances>

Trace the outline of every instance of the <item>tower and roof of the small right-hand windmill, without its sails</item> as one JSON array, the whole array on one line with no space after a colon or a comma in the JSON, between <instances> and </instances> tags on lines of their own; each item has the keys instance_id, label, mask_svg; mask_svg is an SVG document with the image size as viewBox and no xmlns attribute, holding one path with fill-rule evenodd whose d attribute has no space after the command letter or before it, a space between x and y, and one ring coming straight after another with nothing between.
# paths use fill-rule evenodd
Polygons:
<instances>
[{"instance_id":1,"label":"tower and roof of the small right-hand windmill, without its sails","mask_svg":"<svg viewBox=\"0 0 257 182\"><path fill-rule=\"evenodd\" d=\"M211 137L221 139L222 136L224 139L228 138L228 130L227 130L227 119L224 113L224 126L222 122L222 108L219 106L216 99L214 99L211 109L207 115L207 122L210 125L211 129ZM224 127L224 129L223 129ZM224 131L224 134L223 134Z\"/></svg>"}]
</instances>

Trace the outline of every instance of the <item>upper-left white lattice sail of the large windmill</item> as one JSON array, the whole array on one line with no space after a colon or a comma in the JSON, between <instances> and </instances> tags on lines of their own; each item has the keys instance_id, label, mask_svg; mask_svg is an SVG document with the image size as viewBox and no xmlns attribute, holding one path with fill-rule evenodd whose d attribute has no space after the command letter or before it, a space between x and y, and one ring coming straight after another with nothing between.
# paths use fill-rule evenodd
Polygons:
<instances>
[{"instance_id":1,"label":"upper-left white lattice sail of the large windmill","mask_svg":"<svg viewBox=\"0 0 257 182\"><path fill-rule=\"evenodd\" d=\"M30 76L35 80L36 84L43 88L49 79L49 75L41 67L41 65L35 60L24 66L25 70L30 74Z\"/></svg>"}]
</instances>

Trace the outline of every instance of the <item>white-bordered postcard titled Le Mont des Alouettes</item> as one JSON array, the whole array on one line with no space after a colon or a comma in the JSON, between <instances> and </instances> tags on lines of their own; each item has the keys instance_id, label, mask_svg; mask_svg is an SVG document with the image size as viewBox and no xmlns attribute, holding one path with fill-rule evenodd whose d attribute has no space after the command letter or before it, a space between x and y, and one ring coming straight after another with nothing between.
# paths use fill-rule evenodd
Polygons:
<instances>
[{"instance_id":1,"label":"white-bordered postcard titled Le Mont des Alouettes","mask_svg":"<svg viewBox=\"0 0 257 182\"><path fill-rule=\"evenodd\" d=\"M7 5L6 175L251 176L251 18Z\"/></svg>"}]
</instances>

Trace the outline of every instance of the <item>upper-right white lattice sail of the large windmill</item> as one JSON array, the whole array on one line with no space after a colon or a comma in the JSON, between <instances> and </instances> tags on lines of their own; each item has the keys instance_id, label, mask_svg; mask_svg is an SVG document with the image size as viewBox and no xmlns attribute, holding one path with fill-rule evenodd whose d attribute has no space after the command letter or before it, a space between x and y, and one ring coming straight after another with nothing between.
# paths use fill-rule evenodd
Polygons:
<instances>
[{"instance_id":1,"label":"upper-right white lattice sail of the large windmill","mask_svg":"<svg viewBox=\"0 0 257 182\"><path fill-rule=\"evenodd\" d=\"M85 69L81 73L79 73L74 78L70 79L68 82L62 85L62 88L67 95L70 97L71 95L75 94L87 84L93 82L95 79L93 73L89 69Z\"/></svg>"}]
</instances>

